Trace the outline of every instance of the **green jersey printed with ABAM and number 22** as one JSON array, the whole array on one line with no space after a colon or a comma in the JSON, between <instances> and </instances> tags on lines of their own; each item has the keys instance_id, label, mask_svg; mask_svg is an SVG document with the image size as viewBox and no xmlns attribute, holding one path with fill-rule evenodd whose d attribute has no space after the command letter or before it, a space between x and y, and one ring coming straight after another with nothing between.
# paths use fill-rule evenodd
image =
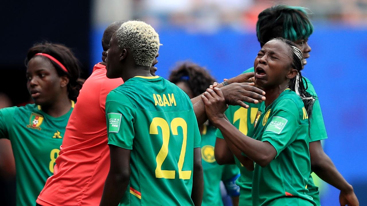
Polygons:
<instances>
[{"instance_id":1,"label":"green jersey printed with ABAM and number 22","mask_svg":"<svg viewBox=\"0 0 367 206\"><path fill-rule=\"evenodd\" d=\"M189 97L162 77L137 76L106 99L108 144L131 151L121 204L193 205L193 150L200 132Z\"/></svg>"}]
</instances>

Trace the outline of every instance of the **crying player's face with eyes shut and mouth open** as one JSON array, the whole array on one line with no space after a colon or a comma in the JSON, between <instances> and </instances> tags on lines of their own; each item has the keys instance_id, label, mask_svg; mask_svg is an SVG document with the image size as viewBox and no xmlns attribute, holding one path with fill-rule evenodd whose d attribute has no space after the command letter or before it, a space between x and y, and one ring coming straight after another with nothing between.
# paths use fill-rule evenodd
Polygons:
<instances>
[{"instance_id":1,"label":"crying player's face with eyes shut and mouth open","mask_svg":"<svg viewBox=\"0 0 367 206\"><path fill-rule=\"evenodd\" d=\"M280 40L268 41L255 58L255 84L266 89L288 82L290 52L286 43Z\"/></svg>"}]
</instances>

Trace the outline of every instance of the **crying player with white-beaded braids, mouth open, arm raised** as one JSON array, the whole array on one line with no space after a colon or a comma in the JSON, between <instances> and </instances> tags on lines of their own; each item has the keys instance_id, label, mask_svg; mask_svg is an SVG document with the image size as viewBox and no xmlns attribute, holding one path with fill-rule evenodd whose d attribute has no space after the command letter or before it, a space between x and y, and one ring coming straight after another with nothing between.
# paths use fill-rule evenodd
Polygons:
<instances>
[{"instance_id":1,"label":"crying player with white-beaded braids, mouth open, arm raised","mask_svg":"<svg viewBox=\"0 0 367 206\"><path fill-rule=\"evenodd\" d=\"M254 62L255 83L266 92L266 108L255 118L253 139L225 118L220 89L208 89L202 96L208 118L246 159L255 162L254 206L316 205L306 189L309 116L315 99L302 82L302 62L301 50L283 38L269 41L259 51Z\"/></svg>"}]
</instances>

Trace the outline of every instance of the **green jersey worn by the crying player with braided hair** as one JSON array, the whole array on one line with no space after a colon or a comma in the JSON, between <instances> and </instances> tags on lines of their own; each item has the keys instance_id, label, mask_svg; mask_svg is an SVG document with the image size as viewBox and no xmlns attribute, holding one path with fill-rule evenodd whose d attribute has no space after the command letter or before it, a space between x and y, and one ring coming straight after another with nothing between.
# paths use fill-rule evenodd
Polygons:
<instances>
[{"instance_id":1,"label":"green jersey worn by the crying player with braided hair","mask_svg":"<svg viewBox=\"0 0 367 206\"><path fill-rule=\"evenodd\" d=\"M253 206L316 205L306 188L311 167L308 132L304 103L290 89L266 107L253 138L268 141L277 154L264 168L255 164Z\"/></svg>"}]
</instances>

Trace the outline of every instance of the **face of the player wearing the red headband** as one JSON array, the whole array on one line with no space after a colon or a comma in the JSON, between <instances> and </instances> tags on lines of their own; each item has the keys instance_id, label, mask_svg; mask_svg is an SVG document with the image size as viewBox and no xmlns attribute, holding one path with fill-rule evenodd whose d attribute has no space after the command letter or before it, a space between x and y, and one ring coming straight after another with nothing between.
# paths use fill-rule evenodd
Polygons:
<instances>
[{"instance_id":1,"label":"face of the player wearing the red headband","mask_svg":"<svg viewBox=\"0 0 367 206\"><path fill-rule=\"evenodd\" d=\"M66 85L63 81L65 77L59 77L57 71L46 58L36 56L28 62L27 88L38 105L50 105L61 95Z\"/></svg>"}]
</instances>

